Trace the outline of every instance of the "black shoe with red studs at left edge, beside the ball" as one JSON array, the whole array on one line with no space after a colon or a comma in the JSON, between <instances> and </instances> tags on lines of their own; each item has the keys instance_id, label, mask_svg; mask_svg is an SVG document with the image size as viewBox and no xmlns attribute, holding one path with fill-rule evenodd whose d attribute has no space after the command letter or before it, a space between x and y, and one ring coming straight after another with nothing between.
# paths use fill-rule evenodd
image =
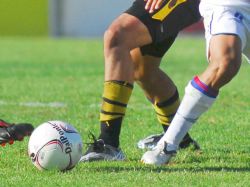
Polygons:
<instances>
[{"instance_id":1,"label":"black shoe with red studs at left edge, beside the ball","mask_svg":"<svg viewBox=\"0 0 250 187\"><path fill-rule=\"evenodd\" d=\"M22 141L25 136L29 136L34 130L28 123L10 124L0 119L0 145L6 143L13 144L14 141Z\"/></svg>"}]
</instances>

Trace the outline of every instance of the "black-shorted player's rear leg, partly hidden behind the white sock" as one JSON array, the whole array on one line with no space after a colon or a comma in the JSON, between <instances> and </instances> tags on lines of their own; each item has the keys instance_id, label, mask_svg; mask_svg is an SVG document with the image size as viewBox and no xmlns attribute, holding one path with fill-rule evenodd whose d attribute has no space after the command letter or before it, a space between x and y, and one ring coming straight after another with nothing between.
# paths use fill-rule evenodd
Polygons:
<instances>
[{"instance_id":1,"label":"black-shorted player's rear leg, partly hidden behind the white sock","mask_svg":"<svg viewBox=\"0 0 250 187\"><path fill-rule=\"evenodd\" d=\"M131 51L134 62L135 81L142 88L148 100L152 102L157 119L162 125L164 132L167 131L180 103L175 84L159 67L162 56L174 40L175 36L169 37L162 43L161 47L159 44L157 45L158 47L148 45L147 47L145 46L141 49L137 48ZM144 53L144 55L142 55L142 53ZM138 147L152 149L163 134L164 133L151 135L140 140ZM199 145L187 133L180 147L186 148L190 145L194 145L195 149L199 149Z\"/></svg>"}]
</instances>

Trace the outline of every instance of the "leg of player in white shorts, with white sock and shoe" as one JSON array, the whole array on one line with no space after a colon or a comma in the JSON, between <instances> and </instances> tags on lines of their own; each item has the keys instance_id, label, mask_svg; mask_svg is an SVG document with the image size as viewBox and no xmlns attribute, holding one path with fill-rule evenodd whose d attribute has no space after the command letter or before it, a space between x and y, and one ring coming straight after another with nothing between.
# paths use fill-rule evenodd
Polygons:
<instances>
[{"instance_id":1,"label":"leg of player in white shorts, with white sock and shoe","mask_svg":"<svg viewBox=\"0 0 250 187\"><path fill-rule=\"evenodd\" d=\"M185 133L212 106L220 88L230 82L239 71L242 43L245 43L244 34L242 35L244 26L240 24L240 20L235 19L234 13L225 16L221 12L219 20L215 15L213 14L213 20L224 27L216 31L214 35L210 35L213 31L210 31L210 34L207 33L210 63L203 73L194 77L187 85L177 114L157 145L158 149L143 155L142 161L147 164L165 164L170 160ZM228 23L236 30L231 30L231 32L228 28L226 31L223 30L225 24Z\"/></svg>"}]
</instances>

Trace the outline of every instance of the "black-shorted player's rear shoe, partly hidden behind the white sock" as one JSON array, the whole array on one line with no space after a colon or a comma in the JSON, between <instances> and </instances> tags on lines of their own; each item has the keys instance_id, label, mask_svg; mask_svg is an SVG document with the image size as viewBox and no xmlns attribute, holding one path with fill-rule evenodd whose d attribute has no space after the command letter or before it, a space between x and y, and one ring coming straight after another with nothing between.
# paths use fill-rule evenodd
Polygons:
<instances>
[{"instance_id":1,"label":"black-shorted player's rear shoe, partly hidden behind the white sock","mask_svg":"<svg viewBox=\"0 0 250 187\"><path fill-rule=\"evenodd\" d=\"M164 133L150 135L150 136L140 140L137 143L137 147L139 149L152 150L157 145L158 141L163 137L163 135L164 135ZM200 149L199 144L195 140L193 140L189 134L186 134L186 136L181 141L179 148L184 149L184 148L187 148L189 146L193 146L195 150Z\"/></svg>"}]
</instances>

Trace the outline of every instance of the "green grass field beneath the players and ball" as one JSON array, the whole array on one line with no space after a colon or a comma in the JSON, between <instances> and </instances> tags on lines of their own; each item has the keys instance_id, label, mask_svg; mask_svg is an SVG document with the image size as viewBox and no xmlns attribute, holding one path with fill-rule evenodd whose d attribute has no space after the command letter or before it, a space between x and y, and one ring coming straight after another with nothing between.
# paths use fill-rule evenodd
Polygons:
<instances>
[{"instance_id":1,"label":"green grass field beneath the players and ball","mask_svg":"<svg viewBox=\"0 0 250 187\"><path fill-rule=\"evenodd\" d=\"M0 38L0 118L73 124L88 142L99 131L103 85L101 40ZM162 68L184 86L207 65L203 38L180 37ZM135 86L121 132L125 162L81 163L70 172L38 171L26 138L0 147L0 186L250 186L250 65L222 91L191 134L202 152L180 151L171 164L142 165L136 142L161 132L151 105ZM85 147L86 149L86 147Z\"/></svg>"}]
</instances>

